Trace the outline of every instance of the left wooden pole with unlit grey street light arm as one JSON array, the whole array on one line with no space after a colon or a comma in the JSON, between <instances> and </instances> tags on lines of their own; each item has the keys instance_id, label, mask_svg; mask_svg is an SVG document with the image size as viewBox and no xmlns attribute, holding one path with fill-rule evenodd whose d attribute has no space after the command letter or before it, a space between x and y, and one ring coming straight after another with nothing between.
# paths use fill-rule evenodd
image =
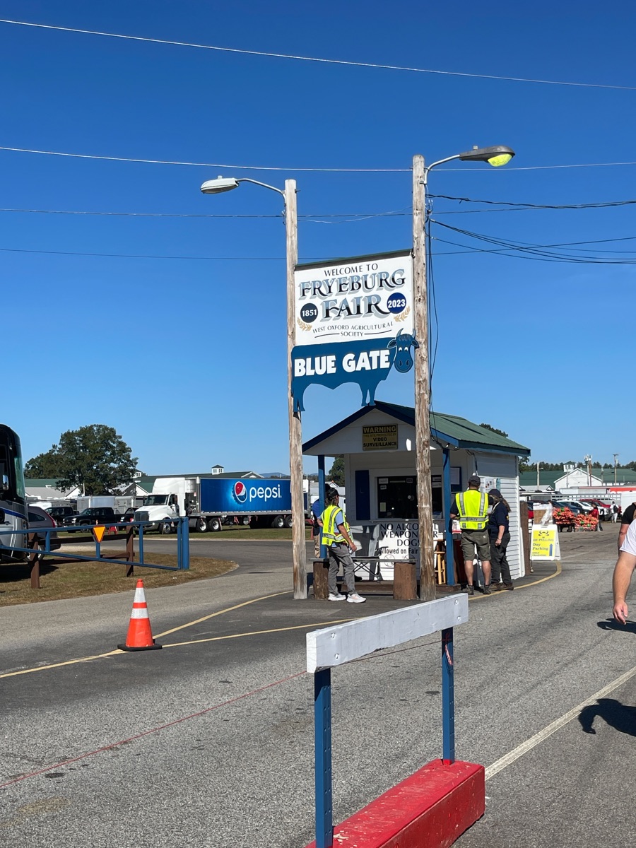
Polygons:
<instances>
[{"instance_id":1,"label":"left wooden pole with unlit grey street light arm","mask_svg":"<svg viewBox=\"0 0 636 848\"><path fill-rule=\"evenodd\" d=\"M278 192L285 201L285 232L287 237L287 415L289 418L289 476L292 489L292 548L293 548L293 596L307 597L307 555L304 541L303 504L303 445L300 413L294 415L292 397L292 349L296 343L293 315L293 272L298 262L298 213L296 207L296 181L286 180L285 191L266 182L250 180L248 177L234 179L219 176L207 180L201 186L204 194L231 192L242 182L253 182L255 186Z\"/></svg>"}]
</instances>

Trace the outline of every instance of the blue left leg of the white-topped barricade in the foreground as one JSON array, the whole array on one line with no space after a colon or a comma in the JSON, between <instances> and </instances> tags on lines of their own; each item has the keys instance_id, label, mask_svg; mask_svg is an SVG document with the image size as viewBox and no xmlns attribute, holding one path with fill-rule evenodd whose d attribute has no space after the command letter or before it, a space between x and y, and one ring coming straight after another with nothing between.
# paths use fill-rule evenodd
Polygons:
<instances>
[{"instance_id":1,"label":"blue left leg of the white-topped barricade in the foreground","mask_svg":"<svg viewBox=\"0 0 636 848\"><path fill-rule=\"evenodd\" d=\"M332 670L314 674L315 848L332 848Z\"/></svg>"}]
</instances>

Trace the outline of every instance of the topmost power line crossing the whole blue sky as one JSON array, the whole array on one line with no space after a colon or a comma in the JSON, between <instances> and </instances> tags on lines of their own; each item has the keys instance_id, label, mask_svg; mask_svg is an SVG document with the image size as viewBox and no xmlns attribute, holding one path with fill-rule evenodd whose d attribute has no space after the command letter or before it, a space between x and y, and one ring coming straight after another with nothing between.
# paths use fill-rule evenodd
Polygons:
<instances>
[{"instance_id":1,"label":"topmost power line crossing the whole blue sky","mask_svg":"<svg viewBox=\"0 0 636 848\"><path fill-rule=\"evenodd\" d=\"M265 50L245 50L238 47L217 47L211 44L198 44L196 42L176 42L166 38L149 38L146 36L126 36L118 32L103 32L99 30L82 30L70 26L54 26L51 24L34 24L26 20L8 20L0 18L2 24L13 24L16 26L31 26L42 30L56 30L59 32L75 32L87 36L104 36L107 38L121 38L132 42L150 42L153 44L169 44L175 47L196 47L198 50L215 50L220 53L240 53L247 56L265 56L270 59L293 59L300 62L318 62L321 64L342 64L355 68L375 68L377 70L403 70L416 74L437 74L444 76L465 76L479 80L499 80L506 82L532 82L549 86L576 86L581 88L613 88L620 91L633 92L636 86L617 86L603 82L569 82L563 80L538 80L523 76L503 76L495 74L470 74L458 70L432 70L430 68L411 68L398 64L378 64L374 62L354 62L349 59L325 59L316 56L297 56L293 53L270 53Z\"/></svg>"}]
</instances>

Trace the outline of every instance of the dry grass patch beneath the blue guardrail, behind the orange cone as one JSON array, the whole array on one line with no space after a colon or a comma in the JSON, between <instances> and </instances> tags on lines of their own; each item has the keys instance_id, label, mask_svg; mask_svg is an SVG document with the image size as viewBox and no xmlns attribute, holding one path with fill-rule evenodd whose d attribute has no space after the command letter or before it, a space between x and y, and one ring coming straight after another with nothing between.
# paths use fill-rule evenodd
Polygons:
<instances>
[{"instance_id":1,"label":"dry grass patch beneath the blue guardrail, behind the orange cone","mask_svg":"<svg viewBox=\"0 0 636 848\"><path fill-rule=\"evenodd\" d=\"M109 550L111 553L114 555L115 551ZM120 551L119 558L126 559L124 550ZM148 553L146 558L158 566L176 566L176 555ZM180 583L191 583L192 580L218 577L232 571L234 567L235 563L231 561L191 555L190 570L187 572L166 572L159 568L136 565L134 577L126 577L126 566L109 562L59 562L55 557L50 557L40 563L42 589L31 589L28 565L0 565L0 606L131 592L140 577L147 589L178 586Z\"/></svg>"}]
</instances>

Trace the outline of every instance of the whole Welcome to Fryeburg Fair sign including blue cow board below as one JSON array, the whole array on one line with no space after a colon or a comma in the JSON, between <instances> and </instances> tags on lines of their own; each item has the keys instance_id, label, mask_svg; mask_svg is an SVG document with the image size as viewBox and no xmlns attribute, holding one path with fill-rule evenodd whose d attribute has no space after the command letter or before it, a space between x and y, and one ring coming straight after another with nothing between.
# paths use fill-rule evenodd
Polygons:
<instances>
[{"instance_id":1,"label":"whole Welcome to Fryeburg Fair sign including blue cow board below","mask_svg":"<svg viewBox=\"0 0 636 848\"><path fill-rule=\"evenodd\" d=\"M298 265L294 284L294 410L304 410L304 390L312 383L337 388L355 382L360 405L373 404L392 368L413 367L419 344L410 250Z\"/></svg>"}]
</instances>

